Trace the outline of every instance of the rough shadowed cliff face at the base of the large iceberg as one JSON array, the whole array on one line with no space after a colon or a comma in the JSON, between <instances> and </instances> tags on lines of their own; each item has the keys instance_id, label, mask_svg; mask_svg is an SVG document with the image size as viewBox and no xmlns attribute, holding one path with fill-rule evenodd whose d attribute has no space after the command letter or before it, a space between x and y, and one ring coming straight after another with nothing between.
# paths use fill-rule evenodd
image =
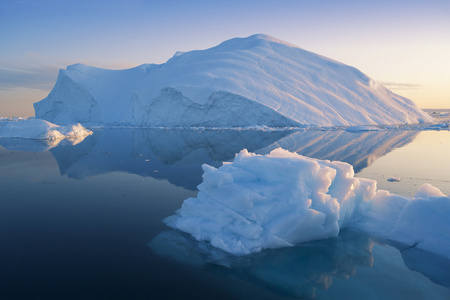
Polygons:
<instances>
[{"instance_id":1,"label":"rough shadowed cliff face at the base of the large iceberg","mask_svg":"<svg viewBox=\"0 0 450 300\"><path fill-rule=\"evenodd\" d=\"M273 109L236 94L213 92L205 104L198 104L170 87L162 89L146 106L135 108L134 114L137 124L142 126L300 126Z\"/></svg>"}]
</instances>

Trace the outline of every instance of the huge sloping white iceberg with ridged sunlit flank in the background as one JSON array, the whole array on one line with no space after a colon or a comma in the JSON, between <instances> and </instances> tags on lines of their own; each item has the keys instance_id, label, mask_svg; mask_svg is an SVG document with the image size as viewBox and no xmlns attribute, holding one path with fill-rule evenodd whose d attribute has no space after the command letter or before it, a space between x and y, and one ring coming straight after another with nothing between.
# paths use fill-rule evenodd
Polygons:
<instances>
[{"instance_id":1,"label":"huge sloping white iceberg with ridged sunlit flank in the background","mask_svg":"<svg viewBox=\"0 0 450 300\"><path fill-rule=\"evenodd\" d=\"M60 70L36 118L170 127L431 122L357 69L267 35L234 38L128 70Z\"/></svg>"}]
</instances>

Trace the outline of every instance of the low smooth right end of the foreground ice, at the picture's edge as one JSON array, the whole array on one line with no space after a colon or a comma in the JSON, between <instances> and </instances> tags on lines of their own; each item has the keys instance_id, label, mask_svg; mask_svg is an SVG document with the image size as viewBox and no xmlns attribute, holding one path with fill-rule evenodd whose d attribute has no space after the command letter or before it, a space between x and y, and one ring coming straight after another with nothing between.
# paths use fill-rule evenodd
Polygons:
<instances>
[{"instance_id":1,"label":"low smooth right end of the foreground ice, at the picture's edge","mask_svg":"<svg viewBox=\"0 0 450 300\"><path fill-rule=\"evenodd\" d=\"M450 258L449 213L450 197L426 183L414 198L378 191L356 224L405 248L417 247Z\"/></svg>"}]
</instances>

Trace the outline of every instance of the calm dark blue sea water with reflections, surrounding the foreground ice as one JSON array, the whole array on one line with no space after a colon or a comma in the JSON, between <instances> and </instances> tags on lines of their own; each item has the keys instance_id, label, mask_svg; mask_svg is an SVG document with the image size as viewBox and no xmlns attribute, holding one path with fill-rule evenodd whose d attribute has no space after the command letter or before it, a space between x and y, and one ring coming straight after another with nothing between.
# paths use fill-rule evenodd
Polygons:
<instances>
[{"instance_id":1,"label":"calm dark blue sea water with reflections, surrounding the foreground ice","mask_svg":"<svg viewBox=\"0 0 450 300\"><path fill-rule=\"evenodd\" d=\"M346 161L407 196L425 182L450 194L449 131L104 129L74 146L0 145L1 299L450 299L448 260L363 232L236 258L162 222L196 196L203 163L243 148Z\"/></svg>"}]
</instances>

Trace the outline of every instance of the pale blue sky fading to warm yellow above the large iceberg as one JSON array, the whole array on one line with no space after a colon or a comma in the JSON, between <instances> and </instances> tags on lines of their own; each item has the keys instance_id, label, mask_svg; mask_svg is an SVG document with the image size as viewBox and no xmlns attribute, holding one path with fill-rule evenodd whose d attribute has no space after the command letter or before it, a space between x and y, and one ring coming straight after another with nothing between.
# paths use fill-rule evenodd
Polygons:
<instances>
[{"instance_id":1,"label":"pale blue sky fading to warm yellow above the large iceberg","mask_svg":"<svg viewBox=\"0 0 450 300\"><path fill-rule=\"evenodd\" d=\"M58 68L163 63L265 33L450 108L450 1L0 0L0 116L32 116Z\"/></svg>"}]
</instances>

